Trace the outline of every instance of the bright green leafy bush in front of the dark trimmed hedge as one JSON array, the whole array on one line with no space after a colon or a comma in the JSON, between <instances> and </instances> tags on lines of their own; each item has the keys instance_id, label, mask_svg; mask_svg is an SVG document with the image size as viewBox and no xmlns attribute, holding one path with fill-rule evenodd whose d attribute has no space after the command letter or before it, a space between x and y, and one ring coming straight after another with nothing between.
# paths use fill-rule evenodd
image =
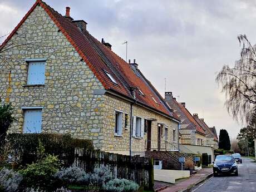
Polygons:
<instances>
[{"instance_id":1,"label":"bright green leafy bush in front of the dark trimmed hedge","mask_svg":"<svg viewBox=\"0 0 256 192\"><path fill-rule=\"evenodd\" d=\"M59 170L60 162L54 155L47 155L37 163L19 171L23 175L22 185L28 188L54 190L56 185L53 175Z\"/></svg>"}]
</instances>

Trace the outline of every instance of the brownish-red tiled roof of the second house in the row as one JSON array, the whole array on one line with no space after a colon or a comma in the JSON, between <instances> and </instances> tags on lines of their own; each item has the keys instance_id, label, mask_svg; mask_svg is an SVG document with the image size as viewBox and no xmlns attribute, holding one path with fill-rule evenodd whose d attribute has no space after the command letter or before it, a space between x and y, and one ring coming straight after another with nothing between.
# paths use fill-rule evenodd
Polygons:
<instances>
[{"instance_id":1,"label":"brownish-red tiled roof of the second house in the row","mask_svg":"<svg viewBox=\"0 0 256 192\"><path fill-rule=\"evenodd\" d=\"M181 105L173 95L169 95L168 98L165 97L165 101L170 105L171 109L174 110L175 114L178 115L181 120L181 125L186 125L186 127L182 127L181 129L190 129L196 130L196 132L205 135L204 129L196 122L193 115L190 114L188 109L186 109L183 105Z\"/></svg>"}]
</instances>

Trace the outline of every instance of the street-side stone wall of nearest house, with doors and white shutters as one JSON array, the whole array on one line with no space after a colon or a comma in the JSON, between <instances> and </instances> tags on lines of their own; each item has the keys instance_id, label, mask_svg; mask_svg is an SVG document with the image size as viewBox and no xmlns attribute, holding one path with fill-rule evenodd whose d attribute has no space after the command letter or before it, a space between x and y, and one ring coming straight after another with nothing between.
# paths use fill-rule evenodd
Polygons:
<instances>
[{"instance_id":1,"label":"street-side stone wall of nearest house, with doors and white shutters","mask_svg":"<svg viewBox=\"0 0 256 192\"><path fill-rule=\"evenodd\" d=\"M129 154L130 142L130 121L131 121L131 102L119 99L115 96L105 95L105 113L104 116L104 135L105 143L104 150L110 152L117 152L120 154ZM115 127L115 111L123 112L122 120L122 135L114 134ZM125 114L128 115L127 127L124 127ZM173 142L173 130L175 129L175 137L178 142L178 122L170 120L169 118L159 115L138 105L132 105L132 116L138 116L143 119L156 119L151 124L151 140L157 141L157 125L163 124L168 126L168 141ZM147 134L143 138L132 137L132 153L136 155L145 155L145 142L147 141Z\"/></svg>"}]
</instances>

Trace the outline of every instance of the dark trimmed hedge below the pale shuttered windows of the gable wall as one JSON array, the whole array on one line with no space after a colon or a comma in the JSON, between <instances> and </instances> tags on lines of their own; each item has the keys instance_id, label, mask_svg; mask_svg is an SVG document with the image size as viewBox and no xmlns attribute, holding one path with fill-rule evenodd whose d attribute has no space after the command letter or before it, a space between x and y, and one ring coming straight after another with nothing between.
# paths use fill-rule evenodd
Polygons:
<instances>
[{"instance_id":1,"label":"dark trimmed hedge below the pale shuttered windows of the gable wall","mask_svg":"<svg viewBox=\"0 0 256 192\"><path fill-rule=\"evenodd\" d=\"M75 148L93 150L90 140L74 139L68 134L9 134L7 141L11 156L17 165L36 162L40 156L40 145L45 154L58 156L63 166L70 166L75 159Z\"/></svg>"}]
</instances>

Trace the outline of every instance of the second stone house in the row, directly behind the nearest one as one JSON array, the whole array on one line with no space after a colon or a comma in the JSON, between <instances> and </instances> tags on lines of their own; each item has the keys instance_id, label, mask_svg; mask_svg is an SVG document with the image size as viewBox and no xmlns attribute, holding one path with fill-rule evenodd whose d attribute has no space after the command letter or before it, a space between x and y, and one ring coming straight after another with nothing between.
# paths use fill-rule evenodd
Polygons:
<instances>
[{"instance_id":1,"label":"second stone house in the row, directly behind the nearest one","mask_svg":"<svg viewBox=\"0 0 256 192\"><path fill-rule=\"evenodd\" d=\"M189 145L206 145L206 133L186 109L185 103L179 103L172 92L165 92L165 101L180 119L180 143Z\"/></svg>"}]
</instances>

